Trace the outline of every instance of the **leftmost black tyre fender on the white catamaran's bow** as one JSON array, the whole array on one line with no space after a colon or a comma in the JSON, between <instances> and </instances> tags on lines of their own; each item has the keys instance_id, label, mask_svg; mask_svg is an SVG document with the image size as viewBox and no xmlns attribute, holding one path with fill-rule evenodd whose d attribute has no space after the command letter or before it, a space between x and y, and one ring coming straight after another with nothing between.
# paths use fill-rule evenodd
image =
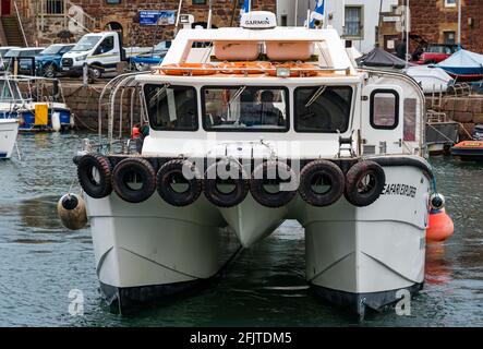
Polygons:
<instances>
[{"instance_id":1,"label":"leftmost black tyre fender on the white catamaran's bow","mask_svg":"<svg viewBox=\"0 0 483 349\"><path fill-rule=\"evenodd\" d=\"M112 192L111 165L99 154L87 154L77 161L79 183L93 198L102 198Z\"/></svg>"}]
</instances>

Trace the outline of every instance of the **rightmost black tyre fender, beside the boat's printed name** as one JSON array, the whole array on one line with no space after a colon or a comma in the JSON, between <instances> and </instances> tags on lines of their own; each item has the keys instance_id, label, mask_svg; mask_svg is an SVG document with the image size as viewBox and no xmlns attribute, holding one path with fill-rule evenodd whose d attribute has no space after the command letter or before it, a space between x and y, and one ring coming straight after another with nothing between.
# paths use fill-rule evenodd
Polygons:
<instances>
[{"instance_id":1,"label":"rightmost black tyre fender, beside the boat's printed name","mask_svg":"<svg viewBox=\"0 0 483 349\"><path fill-rule=\"evenodd\" d=\"M379 198L385 184L386 174L381 165L361 161L347 172L345 196L357 207L370 206Z\"/></svg>"}]
</instances>

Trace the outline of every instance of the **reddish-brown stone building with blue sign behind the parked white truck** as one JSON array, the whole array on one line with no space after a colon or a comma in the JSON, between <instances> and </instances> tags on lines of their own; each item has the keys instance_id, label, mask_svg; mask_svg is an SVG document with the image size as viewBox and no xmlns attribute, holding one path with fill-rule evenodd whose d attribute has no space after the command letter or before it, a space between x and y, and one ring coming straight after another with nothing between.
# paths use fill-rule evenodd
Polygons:
<instances>
[{"instance_id":1,"label":"reddish-brown stone building with blue sign behind the parked white truck","mask_svg":"<svg viewBox=\"0 0 483 349\"><path fill-rule=\"evenodd\" d=\"M1 0L1 45L75 41L87 32L122 31L126 46L150 46L171 39L179 0ZM208 20L208 0L184 0L181 13L194 15L198 25ZM242 0L213 0L213 25L238 25ZM15 7L16 4L16 7ZM276 0L252 0L253 10L276 12ZM145 11L149 12L146 15ZM149 14L160 12L160 25L152 25ZM157 15L157 14L155 14ZM20 19L20 21L19 21ZM12 23L16 22L17 27ZM19 22L22 25L19 25ZM149 25L150 24L150 25ZM4 29L3 29L4 28ZM25 34L23 34L25 33Z\"/></svg>"}]
</instances>

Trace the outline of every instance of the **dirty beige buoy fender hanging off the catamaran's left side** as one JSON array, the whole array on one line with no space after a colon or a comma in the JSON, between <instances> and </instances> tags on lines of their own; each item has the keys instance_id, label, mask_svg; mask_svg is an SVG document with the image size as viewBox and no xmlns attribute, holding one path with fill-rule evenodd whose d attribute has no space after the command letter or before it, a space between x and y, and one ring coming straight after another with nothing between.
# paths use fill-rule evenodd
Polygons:
<instances>
[{"instance_id":1,"label":"dirty beige buoy fender hanging off the catamaran's left side","mask_svg":"<svg viewBox=\"0 0 483 349\"><path fill-rule=\"evenodd\" d=\"M80 230L87 224L85 201L76 194L67 194L59 200L57 212L62 225L70 230Z\"/></svg>"}]
</instances>

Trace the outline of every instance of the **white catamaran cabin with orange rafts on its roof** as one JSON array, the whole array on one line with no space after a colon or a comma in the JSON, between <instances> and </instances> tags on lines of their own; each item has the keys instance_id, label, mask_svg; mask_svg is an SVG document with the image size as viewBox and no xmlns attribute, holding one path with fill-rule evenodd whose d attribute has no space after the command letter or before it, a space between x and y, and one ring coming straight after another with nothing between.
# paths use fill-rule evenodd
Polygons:
<instances>
[{"instance_id":1,"label":"white catamaran cabin with orange rafts on its roof","mask_svg":"<svg viewBox=\"0 0 483 349\"><path fill-rule=\"evenodd\" d=\"M331 28L182 29L162 65L136 80L150 125L144 155L227 154L228 144L252 154L268 144L288 158L422 149L421 88L357 70ZM352 141L342 155L340 137Z\"/></svg>"}]
</instances>

